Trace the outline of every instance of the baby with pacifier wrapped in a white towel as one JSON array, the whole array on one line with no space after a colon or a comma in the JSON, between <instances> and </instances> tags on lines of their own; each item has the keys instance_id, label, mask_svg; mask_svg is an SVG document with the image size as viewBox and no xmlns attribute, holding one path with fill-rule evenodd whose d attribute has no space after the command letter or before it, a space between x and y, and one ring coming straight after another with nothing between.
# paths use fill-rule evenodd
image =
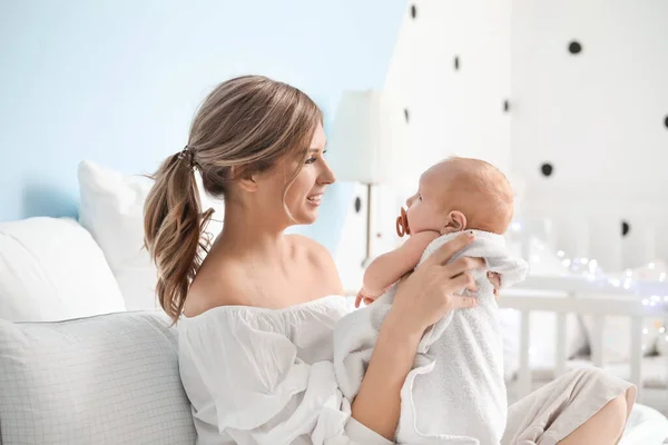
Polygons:
<instances>
[{"instance_id":1,"label":"baby with pacifier wrapped in a white towel","mask_svg":"<svg viewBox=\"0 0 668 445\"><path fill-rule=\"evenodd\" d=\"M508 405L498 306L488 274L499 274L508 287L527 273L527 264L511 258L503 238L513 215L512 189L492 165L450 158L422 175L418 192L406 204L409 210L402 209L396 228L410 238L369 266L357 295L357 305L375 303L345 316L335 327L340 388L350 400L357 394L392 306L393 285L462 230L473 230L475 240L451 261L462 256L485 259L487 269L473 274L478 291L462 289L478 299L478 306L452 312L425 332L401 392L396 442L499 444Z\"/></svg>"}]
</instances>

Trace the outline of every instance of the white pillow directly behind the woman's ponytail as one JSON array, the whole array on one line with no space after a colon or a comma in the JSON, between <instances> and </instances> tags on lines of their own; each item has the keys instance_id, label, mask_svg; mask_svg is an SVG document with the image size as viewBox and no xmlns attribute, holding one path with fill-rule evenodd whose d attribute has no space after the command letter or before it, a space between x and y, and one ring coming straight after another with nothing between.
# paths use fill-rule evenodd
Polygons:
<instances>
[{"instance_id":1,"label":"white pillow directly behind the woman's ponytail","mask_svg":"<svg viewBox=\"0 0 668 445\"><path fill-rule=\"evenodd\" d=\"M79 221L98 243L118 281L128 310L154 310L157 271L144 246L144 201L153 181L127 176L90 161L79 165L81 204ZM203 208L214 207L223 218L222 202L200 192ZM212 221L207 231L217 236L222 224Z\"/></svg>"}]
</instances>

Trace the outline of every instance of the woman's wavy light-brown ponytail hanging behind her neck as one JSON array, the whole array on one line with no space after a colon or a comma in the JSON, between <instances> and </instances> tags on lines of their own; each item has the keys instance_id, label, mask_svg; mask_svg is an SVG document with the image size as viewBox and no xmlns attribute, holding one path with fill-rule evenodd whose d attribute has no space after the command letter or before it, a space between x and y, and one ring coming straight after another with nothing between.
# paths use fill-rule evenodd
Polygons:
<instances>
[{"instance_id":1,"label":"woman's wavy light-brown ponytail hanging behind her neck","mask_svg":"<svg viewBox=\"0 0 668 445\"><path fill-rule=\"evenodd\" d=\"M191 151L168 157L151 178L155 184L144 205L144 245L158 269L158 301L176 323L208 250L202 234L214 210L202 212Z\"/></svg>"}]
</instances>

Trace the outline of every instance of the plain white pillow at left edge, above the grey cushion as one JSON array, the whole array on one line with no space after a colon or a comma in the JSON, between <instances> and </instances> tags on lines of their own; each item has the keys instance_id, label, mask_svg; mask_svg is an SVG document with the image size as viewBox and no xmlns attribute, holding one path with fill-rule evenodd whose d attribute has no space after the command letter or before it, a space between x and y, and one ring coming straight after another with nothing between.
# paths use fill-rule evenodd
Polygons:
<instances>
[{"instance_id":1,"label":"plain white pillow at left edge, above the grey cushion","mask_svg":"<svg viewBox=\"0 0 668 445\"><path fill-rule=\"evenodd\" d=\"M105 256L69 218L0 224L0 318L51 322L125 310Z\"/></svg>"}]
</instances>

